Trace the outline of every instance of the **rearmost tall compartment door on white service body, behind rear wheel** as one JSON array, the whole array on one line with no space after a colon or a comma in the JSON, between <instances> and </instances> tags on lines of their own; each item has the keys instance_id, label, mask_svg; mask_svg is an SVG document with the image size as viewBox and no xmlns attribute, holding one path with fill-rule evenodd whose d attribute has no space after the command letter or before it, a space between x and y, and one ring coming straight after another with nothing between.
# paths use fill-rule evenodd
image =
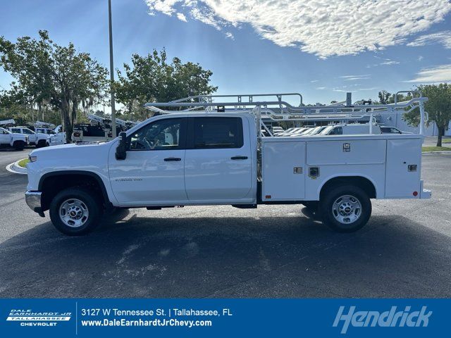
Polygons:
<instances>
[{"instance_id":1,"label":"rearmost tall compartment door on white service body, behind rear wheel","mask_svg":"<svg viewBox=\"0 0 451 338\"><path fill-rule=\"evenodd\" d=\"M387 140L386 198L419 199L422 142L422 139Z\"/></svg>"}]
</instances>

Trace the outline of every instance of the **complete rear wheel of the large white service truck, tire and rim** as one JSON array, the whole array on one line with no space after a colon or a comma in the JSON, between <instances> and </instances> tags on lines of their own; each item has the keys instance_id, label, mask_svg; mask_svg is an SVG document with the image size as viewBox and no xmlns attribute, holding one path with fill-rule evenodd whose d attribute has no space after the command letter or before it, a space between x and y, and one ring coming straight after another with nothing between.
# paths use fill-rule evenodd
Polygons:
<instances>
[{"instance_id":1,"label":"complete rear wheel of the large white service truck, tire and rim","mask_svg":"<svg viewBox=\"0 0 451 338\"><path fill-rule=\"evenodd\" d=\"M348 197L340 199L342 196ZM355 202L356 200L358 203ZM335 201L338 203L335 204ZM323 223L333 230L354 232L368 223L371 216L371 201L363 189L354 185L339 185L328 189L321 196L319 211ZM352 218L356 219L352 220ZM342 222L339 219L342 219Z\"/></svg>"}]
</instances>

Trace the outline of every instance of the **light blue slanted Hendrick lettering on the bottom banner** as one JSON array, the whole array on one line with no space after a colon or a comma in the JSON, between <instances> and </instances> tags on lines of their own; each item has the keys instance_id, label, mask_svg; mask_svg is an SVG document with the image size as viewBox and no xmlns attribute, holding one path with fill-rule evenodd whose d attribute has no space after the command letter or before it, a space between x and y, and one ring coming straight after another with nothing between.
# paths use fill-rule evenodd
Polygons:
<instances>
[{"instance_id":1,"label":"light blue slanted Hendrick lettering on the bottom banner","mask_svg":"<svg viewBox=\"0 0 451 338\"><path fill-rule=\"evenodd\" d=\"M347 329L353 327L426 327L432 311L427 311L427 306L421 307L420 311L411 311L406 306L403 311L397 311L397 306L392 306L390 311L355 311L355 306L350 306L345 313L345 306L338 308L333 327L338 327L340 321L343 323L341 333L345 334Z\"/></svg>"}]
</instances>

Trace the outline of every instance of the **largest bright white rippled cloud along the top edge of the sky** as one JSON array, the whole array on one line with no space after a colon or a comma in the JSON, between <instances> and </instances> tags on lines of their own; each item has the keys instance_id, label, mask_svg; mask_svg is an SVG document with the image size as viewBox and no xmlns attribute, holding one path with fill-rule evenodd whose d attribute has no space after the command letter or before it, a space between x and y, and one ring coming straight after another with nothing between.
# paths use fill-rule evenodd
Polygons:
<instances>
[{"instance_id":1,"label":"largest bright white rippled cloud along the top edge of the sky","mask_svg":"<svg viewBox=\"0 0 451 338\"><path fill-rule=\"evenodd\" d=\"M451 11L448 0L144 0L149 13L176 12L218 30L250 25L279 46L320 58L405 43Z\"/></svg>"}]
</instances>

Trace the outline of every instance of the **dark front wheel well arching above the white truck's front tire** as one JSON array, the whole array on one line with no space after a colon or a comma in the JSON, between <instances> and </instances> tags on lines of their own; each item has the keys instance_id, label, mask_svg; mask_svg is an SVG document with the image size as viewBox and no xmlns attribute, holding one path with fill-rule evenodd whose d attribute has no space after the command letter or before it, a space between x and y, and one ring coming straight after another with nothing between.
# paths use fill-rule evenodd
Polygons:
<instances>
[{"instance_id":1,"label":"dark front wheel well arching above the white truck's front tire","mask_svg":"<svg viewBox=\"0 0 451 338\"><path fill-rule=\"evenodd\" d=\"M87 173L58 173L44 176L39 182L39 191L42 192L42 211L49 210L51 201L58 192L70 187L85 187L94 192L104 206L109 204L104 184L99 176Z\"/></svg>"}]
</instances>

